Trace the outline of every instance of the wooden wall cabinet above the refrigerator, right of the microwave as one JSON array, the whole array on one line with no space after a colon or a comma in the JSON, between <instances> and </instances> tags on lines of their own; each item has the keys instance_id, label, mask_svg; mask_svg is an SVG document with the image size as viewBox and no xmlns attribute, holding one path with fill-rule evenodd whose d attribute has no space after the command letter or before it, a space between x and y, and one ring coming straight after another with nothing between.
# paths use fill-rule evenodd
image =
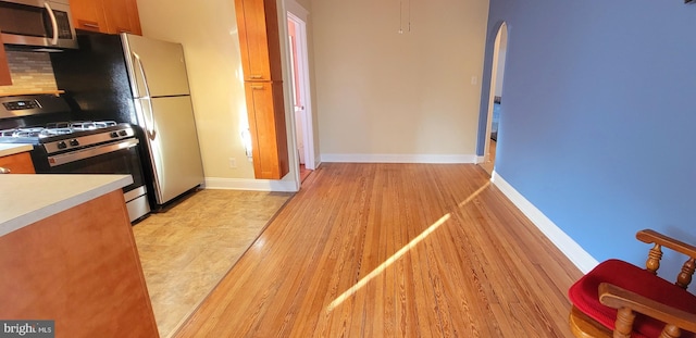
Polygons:
<instances>
[{"instance_id":1,"label":"wooden wall cabinet above the refrigerator, right of the microwave","mask_svg":"<svg viewBox=\"0 0 696 338\"><path fill-rule=\"evenodd\" d=\"M71 0L77 29L142 35L136 0Z\"/></svg>"}]
</instances>

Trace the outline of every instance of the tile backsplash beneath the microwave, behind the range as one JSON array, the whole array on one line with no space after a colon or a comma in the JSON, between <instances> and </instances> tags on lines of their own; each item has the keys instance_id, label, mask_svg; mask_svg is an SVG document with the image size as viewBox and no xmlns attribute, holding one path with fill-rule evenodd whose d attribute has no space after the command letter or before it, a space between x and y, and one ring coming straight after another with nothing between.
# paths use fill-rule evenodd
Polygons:
<instances>
[{"instance_id":1,"label":"tile backsplash beneath the microwave, behind the range","mask_svg":"<svg viewBox=\"0 0 696 338\"><path fill-rule=\"evenodd\" d=\"M7 51L12 86L0 86L0 95L57 90L51 58L47 52Z\"/></svg>"}]
</instances>

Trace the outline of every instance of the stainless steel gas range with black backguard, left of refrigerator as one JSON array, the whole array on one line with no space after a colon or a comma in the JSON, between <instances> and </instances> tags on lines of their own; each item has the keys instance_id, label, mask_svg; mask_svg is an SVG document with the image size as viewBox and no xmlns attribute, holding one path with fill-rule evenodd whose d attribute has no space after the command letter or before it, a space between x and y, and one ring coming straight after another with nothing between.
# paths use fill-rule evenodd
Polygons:
<instances>
[{"instance_id":1,"label":"stainless steel gas range with black backguard, left of refrigerator","mask_svg":"<svg viewBox=\"0 0 696 338\"><path fill-rule=\"evenodd\" d=\"M0 143L29 143L37 174L129 174L124 187L130 221L149 211L137 130L113 121L53 121L72 117L61 97L0 98ZM46 122L51 121L51 122Z\"/></svg>"}]
</instances>

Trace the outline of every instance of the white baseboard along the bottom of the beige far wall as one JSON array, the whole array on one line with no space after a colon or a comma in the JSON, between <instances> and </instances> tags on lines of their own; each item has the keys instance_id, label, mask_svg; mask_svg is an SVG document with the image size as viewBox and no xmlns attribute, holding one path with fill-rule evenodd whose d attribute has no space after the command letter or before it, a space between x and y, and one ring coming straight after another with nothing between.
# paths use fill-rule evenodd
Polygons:
<instances>
[{"instance_id":1,"label":"white baseboard along the bottom of the beige far wall","mask_svg":"<svg viewBox=\"0 0 696 338\"><path fill-rule=\"evenodd\" d=\"M477 163L475 154L325 153L322 162L339 163Z\"/></svg>"}]
</instances>

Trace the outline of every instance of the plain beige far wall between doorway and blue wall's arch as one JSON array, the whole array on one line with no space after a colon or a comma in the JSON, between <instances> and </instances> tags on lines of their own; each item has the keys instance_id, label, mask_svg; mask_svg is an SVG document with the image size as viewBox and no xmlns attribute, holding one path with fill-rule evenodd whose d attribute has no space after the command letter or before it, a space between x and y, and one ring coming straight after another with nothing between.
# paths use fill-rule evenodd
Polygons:
<instances>
[{"instance_id":1,"label":"plain beige far wall between doorway and blue wall's arch","mask_svg":"<svg viewBox=\"0 0 696 338\"><path fill-rule=\"evenodd\" d=\"M488 1L402 2L311 3L324 161L475 158Z\"/></svg>"}]
</instances>

